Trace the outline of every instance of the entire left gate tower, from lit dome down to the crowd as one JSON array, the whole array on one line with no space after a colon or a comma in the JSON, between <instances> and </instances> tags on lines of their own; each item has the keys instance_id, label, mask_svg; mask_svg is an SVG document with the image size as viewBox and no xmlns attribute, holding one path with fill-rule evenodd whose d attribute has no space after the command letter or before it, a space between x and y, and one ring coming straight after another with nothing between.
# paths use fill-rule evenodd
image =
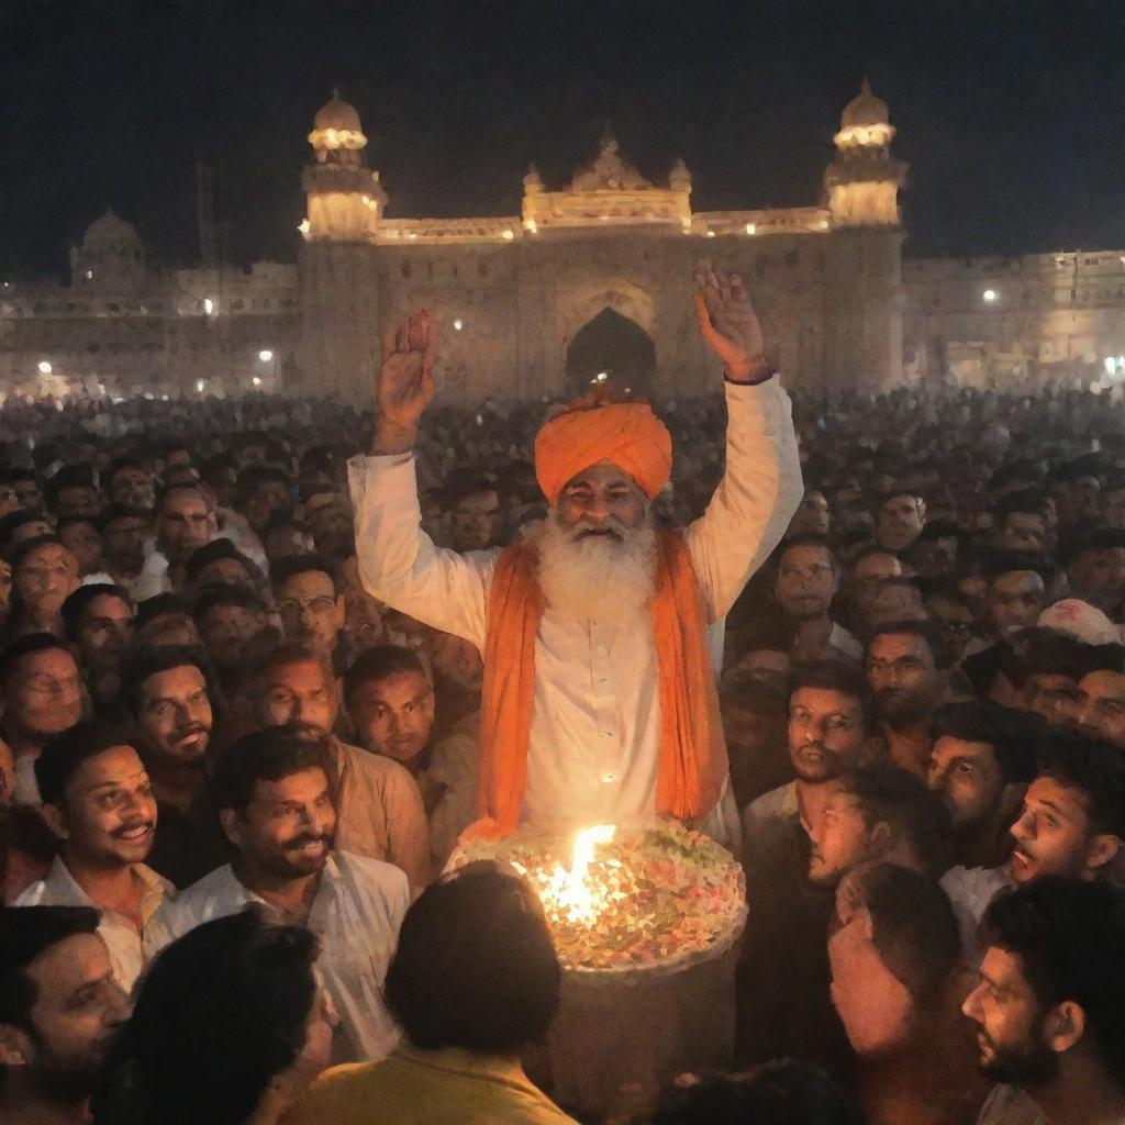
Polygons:
<instances>
[{"instance_id":1,"label":"entire left gate tower, from lit dome down to the crowd","mask_svg":"<svg viewBox=\"0 0 1125 1125\"><path fill-rule=\"evenodd\" d=\"M353 106L334 92L308 134L314 161L302 183L300 333L296 382L362 402L378 354L379 273L375 232L387 197L363 159Z\"/></svg>"}]
</instances>

